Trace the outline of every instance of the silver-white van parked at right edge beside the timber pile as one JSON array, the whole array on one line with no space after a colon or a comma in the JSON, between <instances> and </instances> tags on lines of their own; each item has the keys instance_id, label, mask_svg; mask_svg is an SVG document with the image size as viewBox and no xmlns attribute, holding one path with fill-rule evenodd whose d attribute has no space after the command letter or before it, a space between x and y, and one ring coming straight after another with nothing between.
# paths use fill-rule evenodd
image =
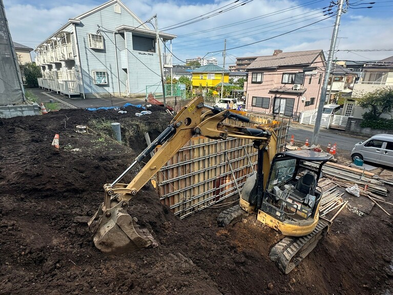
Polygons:
<instances>
[{"instance_id":1,"label":"silver-white van parked at right edge beside the timber pile","mask_svg":"<svg viewBox=\"0 0 393 295\"><path fill-rule=\"evenodd\" d=\"M355 144L350 157L393 167L393 135L377 134Z\"/></svg>"}]
</instances>

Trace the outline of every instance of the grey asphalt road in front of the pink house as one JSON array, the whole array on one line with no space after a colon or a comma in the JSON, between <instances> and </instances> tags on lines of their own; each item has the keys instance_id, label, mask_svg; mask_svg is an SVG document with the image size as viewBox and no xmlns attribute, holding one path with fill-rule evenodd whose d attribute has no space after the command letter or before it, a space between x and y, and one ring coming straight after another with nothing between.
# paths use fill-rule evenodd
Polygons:
<instances>
[{"instance_id":1,"label":"grey asphalt road in front of the pink house","mask_svg":"<svg viewBox=\"0 0 393 295\"><path fill-rule=\"evenodd\" d=\"M306 139L311 143L313 138L314 126L306 126L300 124L292 124L288 131L288 141L291 140L291 136L294 135L295 142L298 144L304 144ZM368 137L359 136L355 134L347 134L342 131L326 130L321 128L319 130L318 143L322 149L326 149L327 144L337 143L337 150L350 152L354 147L355 143L363 141Z\"/></svg>"}]
</instances>

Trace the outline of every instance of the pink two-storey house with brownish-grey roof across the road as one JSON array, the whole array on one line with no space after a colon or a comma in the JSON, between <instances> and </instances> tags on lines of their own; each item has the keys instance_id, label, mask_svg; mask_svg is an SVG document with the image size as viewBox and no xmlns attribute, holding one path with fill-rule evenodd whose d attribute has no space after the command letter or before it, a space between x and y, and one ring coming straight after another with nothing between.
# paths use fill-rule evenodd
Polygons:
<instances>
[{"instance_id":1,"label":"pink two-storey house with brownish-grey roof across the road","mask_svg":"<svg viewBox=\"0 0 393 295\"><path fill-rule=\"evenodd\" d=\"M325 66L322 50L259 56L247 67L246 109L284 116L317 109Z\"/></svg>"}]
</instances>

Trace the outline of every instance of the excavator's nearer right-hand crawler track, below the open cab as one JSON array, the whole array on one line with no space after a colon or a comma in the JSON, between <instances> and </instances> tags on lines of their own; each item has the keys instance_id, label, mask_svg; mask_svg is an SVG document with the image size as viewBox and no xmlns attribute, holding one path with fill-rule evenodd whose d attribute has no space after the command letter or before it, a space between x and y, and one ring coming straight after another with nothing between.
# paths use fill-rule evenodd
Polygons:
<instances>
[{"instance_id":1,"label":"excavator's nearer right-hand crawler track, below the open cab","mask_svg":"<svg viewBox=\"0 0 393 295\"><path fill-rule=\"evenodd\" d=\"M319 220L317 226L304 237L285 237L270 251L269 257L286 275L291 272L326 236L328 223Z\"/></svg>"}]
</instances>

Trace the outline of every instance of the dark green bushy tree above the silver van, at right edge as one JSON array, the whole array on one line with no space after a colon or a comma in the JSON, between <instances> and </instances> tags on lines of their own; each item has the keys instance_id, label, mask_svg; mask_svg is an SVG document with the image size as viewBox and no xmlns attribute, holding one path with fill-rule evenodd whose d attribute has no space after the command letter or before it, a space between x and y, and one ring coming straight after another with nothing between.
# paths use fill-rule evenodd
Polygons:
<instances>
[{"instance_id":1,"label":"dark green bushy tree above the silver van, at right edge","mask_svg":"<svg viewBox=\"0 0 393 295\"><path fill-rule=\"evenodd\" d=\"M393 89L377 89L356 98L356 101L361 108L368 110L363 114L363 119L379 119L382 114L390 114L393 109Z\"/></svg>"}]
</instances>

